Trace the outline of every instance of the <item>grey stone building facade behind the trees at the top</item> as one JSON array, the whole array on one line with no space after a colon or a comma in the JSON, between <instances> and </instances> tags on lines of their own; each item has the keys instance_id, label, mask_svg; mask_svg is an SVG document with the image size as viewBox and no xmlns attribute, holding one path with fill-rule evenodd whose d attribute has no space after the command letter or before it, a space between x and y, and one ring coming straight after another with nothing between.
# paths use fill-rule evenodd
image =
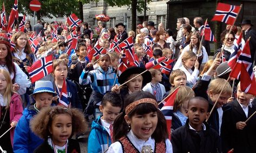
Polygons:
<instances>
[{"instance_id":1,"label":"grey stone building facade behind the trees at the top","mask_svg":"<svg viewBox=\"0 0 256 153\"><path fill-rule=\"evenodd\" d=\"M153 21L156 26L159 23L163 23L166 26L167 2L168 1L153 0L149 4L147 3L148 10L146 11L146 21ZM109 22L107 22L107 27L114 27L115 24L122 22L126 25L127 31L131 29L132 13L129 6L111 7L107 6L103 0L100 0L97 3L90 2L89 4L83 5L84 22L88 22L88 24L94 28L97 25L95 15L100 15L104 11L106 11L106 14L110 17ZM143 18L144 13L137 12L136 24L142 24L144 21Z\"/></svg>"}]
</instances>

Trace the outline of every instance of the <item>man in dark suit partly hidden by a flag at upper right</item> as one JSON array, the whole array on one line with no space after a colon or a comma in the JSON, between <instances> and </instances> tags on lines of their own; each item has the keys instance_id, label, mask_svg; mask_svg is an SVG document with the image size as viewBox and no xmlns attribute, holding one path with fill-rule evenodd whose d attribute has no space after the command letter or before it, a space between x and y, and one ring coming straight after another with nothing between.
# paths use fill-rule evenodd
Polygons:
<instances>
[{"instance_id":1,"label":"man in dark suit partly hidden by a flag at upper right","mask_svg":"<svg viewBox=\"0 0 256 153\"><path fill-rule=\"evenodd\" d=\"M198 29L199 33L201 34L202 30L204 30L204 20L201 17L195 17L194 26ZM211 53L209 41L203 39L202 45L205 46L206 52L209 55Z\"/></svg>"}]
</instances>

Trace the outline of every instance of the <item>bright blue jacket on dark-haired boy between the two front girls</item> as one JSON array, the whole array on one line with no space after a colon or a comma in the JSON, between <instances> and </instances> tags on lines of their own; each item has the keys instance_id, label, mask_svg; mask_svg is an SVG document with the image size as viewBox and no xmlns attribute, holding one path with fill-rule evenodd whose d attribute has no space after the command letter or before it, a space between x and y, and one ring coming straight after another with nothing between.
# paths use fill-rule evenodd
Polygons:
<instances>
[{"instance_id":1,"label":"bright blue jacket on dark-haired boy between the two front girls","mask_svg":"<svg viewBox=\"0 0 256 153\"><path fill-rule=\"evenodd\" d=\"M104 152L111 144L111 138L107 130L101 125L101 116L91 124L91 132L88 139L88 153Z\"/></svg>"}]
</instances>

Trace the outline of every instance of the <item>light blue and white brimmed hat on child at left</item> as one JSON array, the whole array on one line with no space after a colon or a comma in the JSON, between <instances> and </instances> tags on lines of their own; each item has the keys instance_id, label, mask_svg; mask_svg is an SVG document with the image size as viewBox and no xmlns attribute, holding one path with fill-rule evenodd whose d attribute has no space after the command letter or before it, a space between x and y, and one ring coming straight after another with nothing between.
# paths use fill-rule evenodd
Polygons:
<instances>
[{"instance_id":1,"label":"light blue and white brimmed hat on child at left","mask_svg":"<svg viewBox=\"0 0 256 153\"><path fill-rule=\"evenodd\" d=\"M55 94L51 81L36 81L33 94L43 92Z\"/></svg>"}]
</instances>

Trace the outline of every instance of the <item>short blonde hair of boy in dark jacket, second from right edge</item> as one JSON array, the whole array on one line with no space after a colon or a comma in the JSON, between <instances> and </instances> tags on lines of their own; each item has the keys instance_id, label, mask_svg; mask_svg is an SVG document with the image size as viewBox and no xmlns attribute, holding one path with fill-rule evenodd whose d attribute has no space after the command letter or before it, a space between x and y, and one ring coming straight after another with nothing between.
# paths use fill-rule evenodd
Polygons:
<instances>
[{"instance_id":1,"label":"short blonde hair of boy in dark jacket, second from right edge","mask_svg":"<svg viewBox=\"0 0 256 153\"><path fill-rule=\"evenodd\" d=\"M221 92L221 89L223 88L222 94L228 94L232 95L232 87L229 84L226 84L225 79L214 79L210 82L208 87L208 92L212 91L214 94L219 94ZM225 85L225 86L224 86Z\"/></svg>"}]
</instances>

